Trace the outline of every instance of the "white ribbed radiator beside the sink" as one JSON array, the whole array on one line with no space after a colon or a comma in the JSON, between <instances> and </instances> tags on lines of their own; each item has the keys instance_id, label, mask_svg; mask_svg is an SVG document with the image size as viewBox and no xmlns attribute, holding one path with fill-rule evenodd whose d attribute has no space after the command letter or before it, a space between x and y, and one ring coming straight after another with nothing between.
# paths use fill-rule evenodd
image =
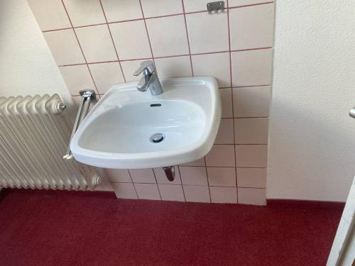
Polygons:
<instances>
[{"instance_id":1,"label":"white ribbed radiator beside the sink","mask_svg":"<svg viewBox=\"0 0 355 266\"><path fill-rule=\"evenodd\" d=\"M53 96L0 97L0 187L92 190L93 167L64 160L72 119Z\"/></svg>"}]
</instances>

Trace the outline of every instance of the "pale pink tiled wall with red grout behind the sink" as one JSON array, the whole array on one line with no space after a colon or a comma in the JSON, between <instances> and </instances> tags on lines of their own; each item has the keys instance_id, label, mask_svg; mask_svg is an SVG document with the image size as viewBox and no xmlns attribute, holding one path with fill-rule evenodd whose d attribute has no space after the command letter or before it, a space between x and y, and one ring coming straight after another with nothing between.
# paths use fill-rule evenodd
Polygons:
<instances>
[{"instance_id":1,"label":"pale pink tiled wall with red grout behind the sink","mask_svg":"<svg viewBox=\"0 0 355 266\"><path fill-rule=\"evenodd\" d=\"M217 78L222 121L206 157L177 167L107 170L129 199L265 204L274 3L229 0L207 13L205 0L28 0L75 101L102 96L151 59L160 77Z\"/></svg>"}]
</instances>

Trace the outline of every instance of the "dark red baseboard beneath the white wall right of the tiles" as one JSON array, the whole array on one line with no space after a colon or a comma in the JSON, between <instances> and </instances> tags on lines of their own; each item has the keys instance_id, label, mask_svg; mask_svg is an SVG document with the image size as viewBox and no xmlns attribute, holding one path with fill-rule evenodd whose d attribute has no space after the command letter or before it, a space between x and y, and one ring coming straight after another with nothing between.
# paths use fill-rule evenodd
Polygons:
<instances>
[{"instance_id":1,"label":"dark red baseboard beneath the white wall right of the tiles","mask_svg":"<svg viewBox=\"0 0 355 266\"><path fill-rule=\"evenodd\" d=\"M271 208L298 208L298 209L336 209L343 210L345 202L342 201L313 201L304 199L266 199L266 205Z\"/></svg>"}]
</instances>

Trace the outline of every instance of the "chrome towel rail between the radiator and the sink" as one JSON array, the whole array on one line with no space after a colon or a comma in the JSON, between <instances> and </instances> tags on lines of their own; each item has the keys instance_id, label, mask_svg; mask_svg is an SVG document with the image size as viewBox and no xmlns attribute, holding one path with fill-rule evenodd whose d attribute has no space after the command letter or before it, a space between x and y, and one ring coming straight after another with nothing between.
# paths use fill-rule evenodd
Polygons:
<instances>
[{"instance_id":1,"label":"chrome towel rail between the radiator and the sink","mask_svg":"<svg viewBox=\"0 0 355 266\"><path fill-rule=\"evenodd\" d=\"M77 110L77 117L75 118L74 127L72 128L72 135L70 136L69 144L67 146L67 153L63 156L63 159L72 159L72 151L70 150L70 143L72 142L72 137L74 137L77 128L79 128L82 120L89 113L89 107L92 100L96 99L96 94L91 89L83 89L79 92L82 96L82 102L80 103L79 109Z\"/></svg>"}]
</instances>

